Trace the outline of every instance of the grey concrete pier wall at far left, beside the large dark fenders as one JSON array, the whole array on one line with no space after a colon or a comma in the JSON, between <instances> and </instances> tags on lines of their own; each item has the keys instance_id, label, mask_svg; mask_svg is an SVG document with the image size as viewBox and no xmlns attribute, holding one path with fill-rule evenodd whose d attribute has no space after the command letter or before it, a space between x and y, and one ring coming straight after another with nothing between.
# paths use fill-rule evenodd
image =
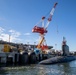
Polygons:
<instances>
[{"instance_id":1,"label":"grey concrete pier wall at far left, beside the large dark fenders","mask_svg":"<svg viewBox=\"0 0 76 75\"><path fill-rule=\"evenodd\" d=\"M19 61L19 53L17 52L1 52L0 63L17 63Z\"/></svg>"}]
</instances>

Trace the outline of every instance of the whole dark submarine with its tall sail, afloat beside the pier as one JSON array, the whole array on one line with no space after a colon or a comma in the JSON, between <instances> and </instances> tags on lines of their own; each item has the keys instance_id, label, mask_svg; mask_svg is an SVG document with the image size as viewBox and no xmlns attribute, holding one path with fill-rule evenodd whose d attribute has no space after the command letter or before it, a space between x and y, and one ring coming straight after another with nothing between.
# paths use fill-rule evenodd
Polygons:
<instances>
[{"instance_id":1,"label":"whole dark submarine with its tall sail, afloat beside the pier","mask_svg":"<svg viewBox=\"0 0 76 75\"><path fill-rule=\"evenodd\" d=\"M69 54L69 46L66 44L65 37L63 37L62 52L63 52L62 56L55 56L46 60L42 60L39 62L39 64L49 65L49 64L65 63L76 60L76 56Z\"/></svg>"}]
</instances>

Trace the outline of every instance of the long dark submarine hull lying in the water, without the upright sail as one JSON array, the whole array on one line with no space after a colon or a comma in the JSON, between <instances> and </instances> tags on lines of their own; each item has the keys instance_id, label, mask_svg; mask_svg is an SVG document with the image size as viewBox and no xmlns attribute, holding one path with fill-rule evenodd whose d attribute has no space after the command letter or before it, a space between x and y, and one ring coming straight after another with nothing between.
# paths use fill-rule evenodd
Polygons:
<instances>
[{"instance_id":1,"label":"long dark submarine hull lying in the water, without the upright sail","mask_svg":"<svg viewBox=\"0 0 76 75\"><path fill-rule=\"evenodd\" d=\"M56 64L56 63L64 63L76 60L76 56L55 56L46 60L39 62L39 64L49 65L49 64Z\"/></svg>"}]
</instances>

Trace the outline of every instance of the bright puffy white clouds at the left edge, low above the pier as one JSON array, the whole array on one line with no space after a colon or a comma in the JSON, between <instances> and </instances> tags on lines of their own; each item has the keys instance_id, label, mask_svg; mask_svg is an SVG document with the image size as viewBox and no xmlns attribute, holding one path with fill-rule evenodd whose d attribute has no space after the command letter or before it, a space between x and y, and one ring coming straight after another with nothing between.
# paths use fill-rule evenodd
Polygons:
<instances>
[{"instance_id":1,"label":"bright puffy white clouds at the left edge, low above the pier","mask_svg":"<svg viewBox=\"0 0 76 75\"><path fill-rule=\"evenodd\" d=\"M10 38L10 42L21 42L22 41L22 39L20 39L20 35L21 35L20 32L11 29L11 30L7 30L6 31L7 33L5 33L4 30L5 30L4 28L0 27L0 39L1 40L9 42L9 38Z\"/></svg>"}]
</instances>

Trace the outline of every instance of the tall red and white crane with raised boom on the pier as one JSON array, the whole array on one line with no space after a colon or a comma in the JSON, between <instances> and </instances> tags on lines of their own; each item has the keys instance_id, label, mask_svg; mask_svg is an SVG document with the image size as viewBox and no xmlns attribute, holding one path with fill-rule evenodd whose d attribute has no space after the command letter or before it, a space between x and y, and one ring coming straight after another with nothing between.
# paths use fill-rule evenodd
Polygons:
<instances>
[{"instance_id":1,"label":"tall red and white crane with raised boom on the pier","mask_svg":"<svg viewBox=\"0 0 76 75\"><path fill-rule=\"evenodd\" d=\"M48 31L47 31L47 27L49 26L49 23L50 23L50 21L52 20L52 16L53 16L53 14L54 14L54 11L55 11L55 8L56 8L56 5L57 5L58 3L55 3L54 4L54 6L53 6L53 8L52 8L52 10L51 10L51 12L50 12L50 15L49 15L49 18L47 19L47 23L46 23L46 25L44 25L44 20L45 20L45 17L43 16L42 17L42 19L41 19L41 21L40 22L42 22L42 27L39 27L39 26L34 26L34 28L32 29L32 32L33 33L39 33L40 34L40 37L41 37L41 39L40 39L40 41L39 41L39 43L38 43L38 45L37 45L37 49L39 49L39 50L45 50L45 49L47 49L48 48L48 46L47 45L44 45L44 43L45 43L45 37L44 37L44 35L45 35L45 33L47 33ZM44 27L45 26L45 27Z\"/></svg>"}]
</instances>

